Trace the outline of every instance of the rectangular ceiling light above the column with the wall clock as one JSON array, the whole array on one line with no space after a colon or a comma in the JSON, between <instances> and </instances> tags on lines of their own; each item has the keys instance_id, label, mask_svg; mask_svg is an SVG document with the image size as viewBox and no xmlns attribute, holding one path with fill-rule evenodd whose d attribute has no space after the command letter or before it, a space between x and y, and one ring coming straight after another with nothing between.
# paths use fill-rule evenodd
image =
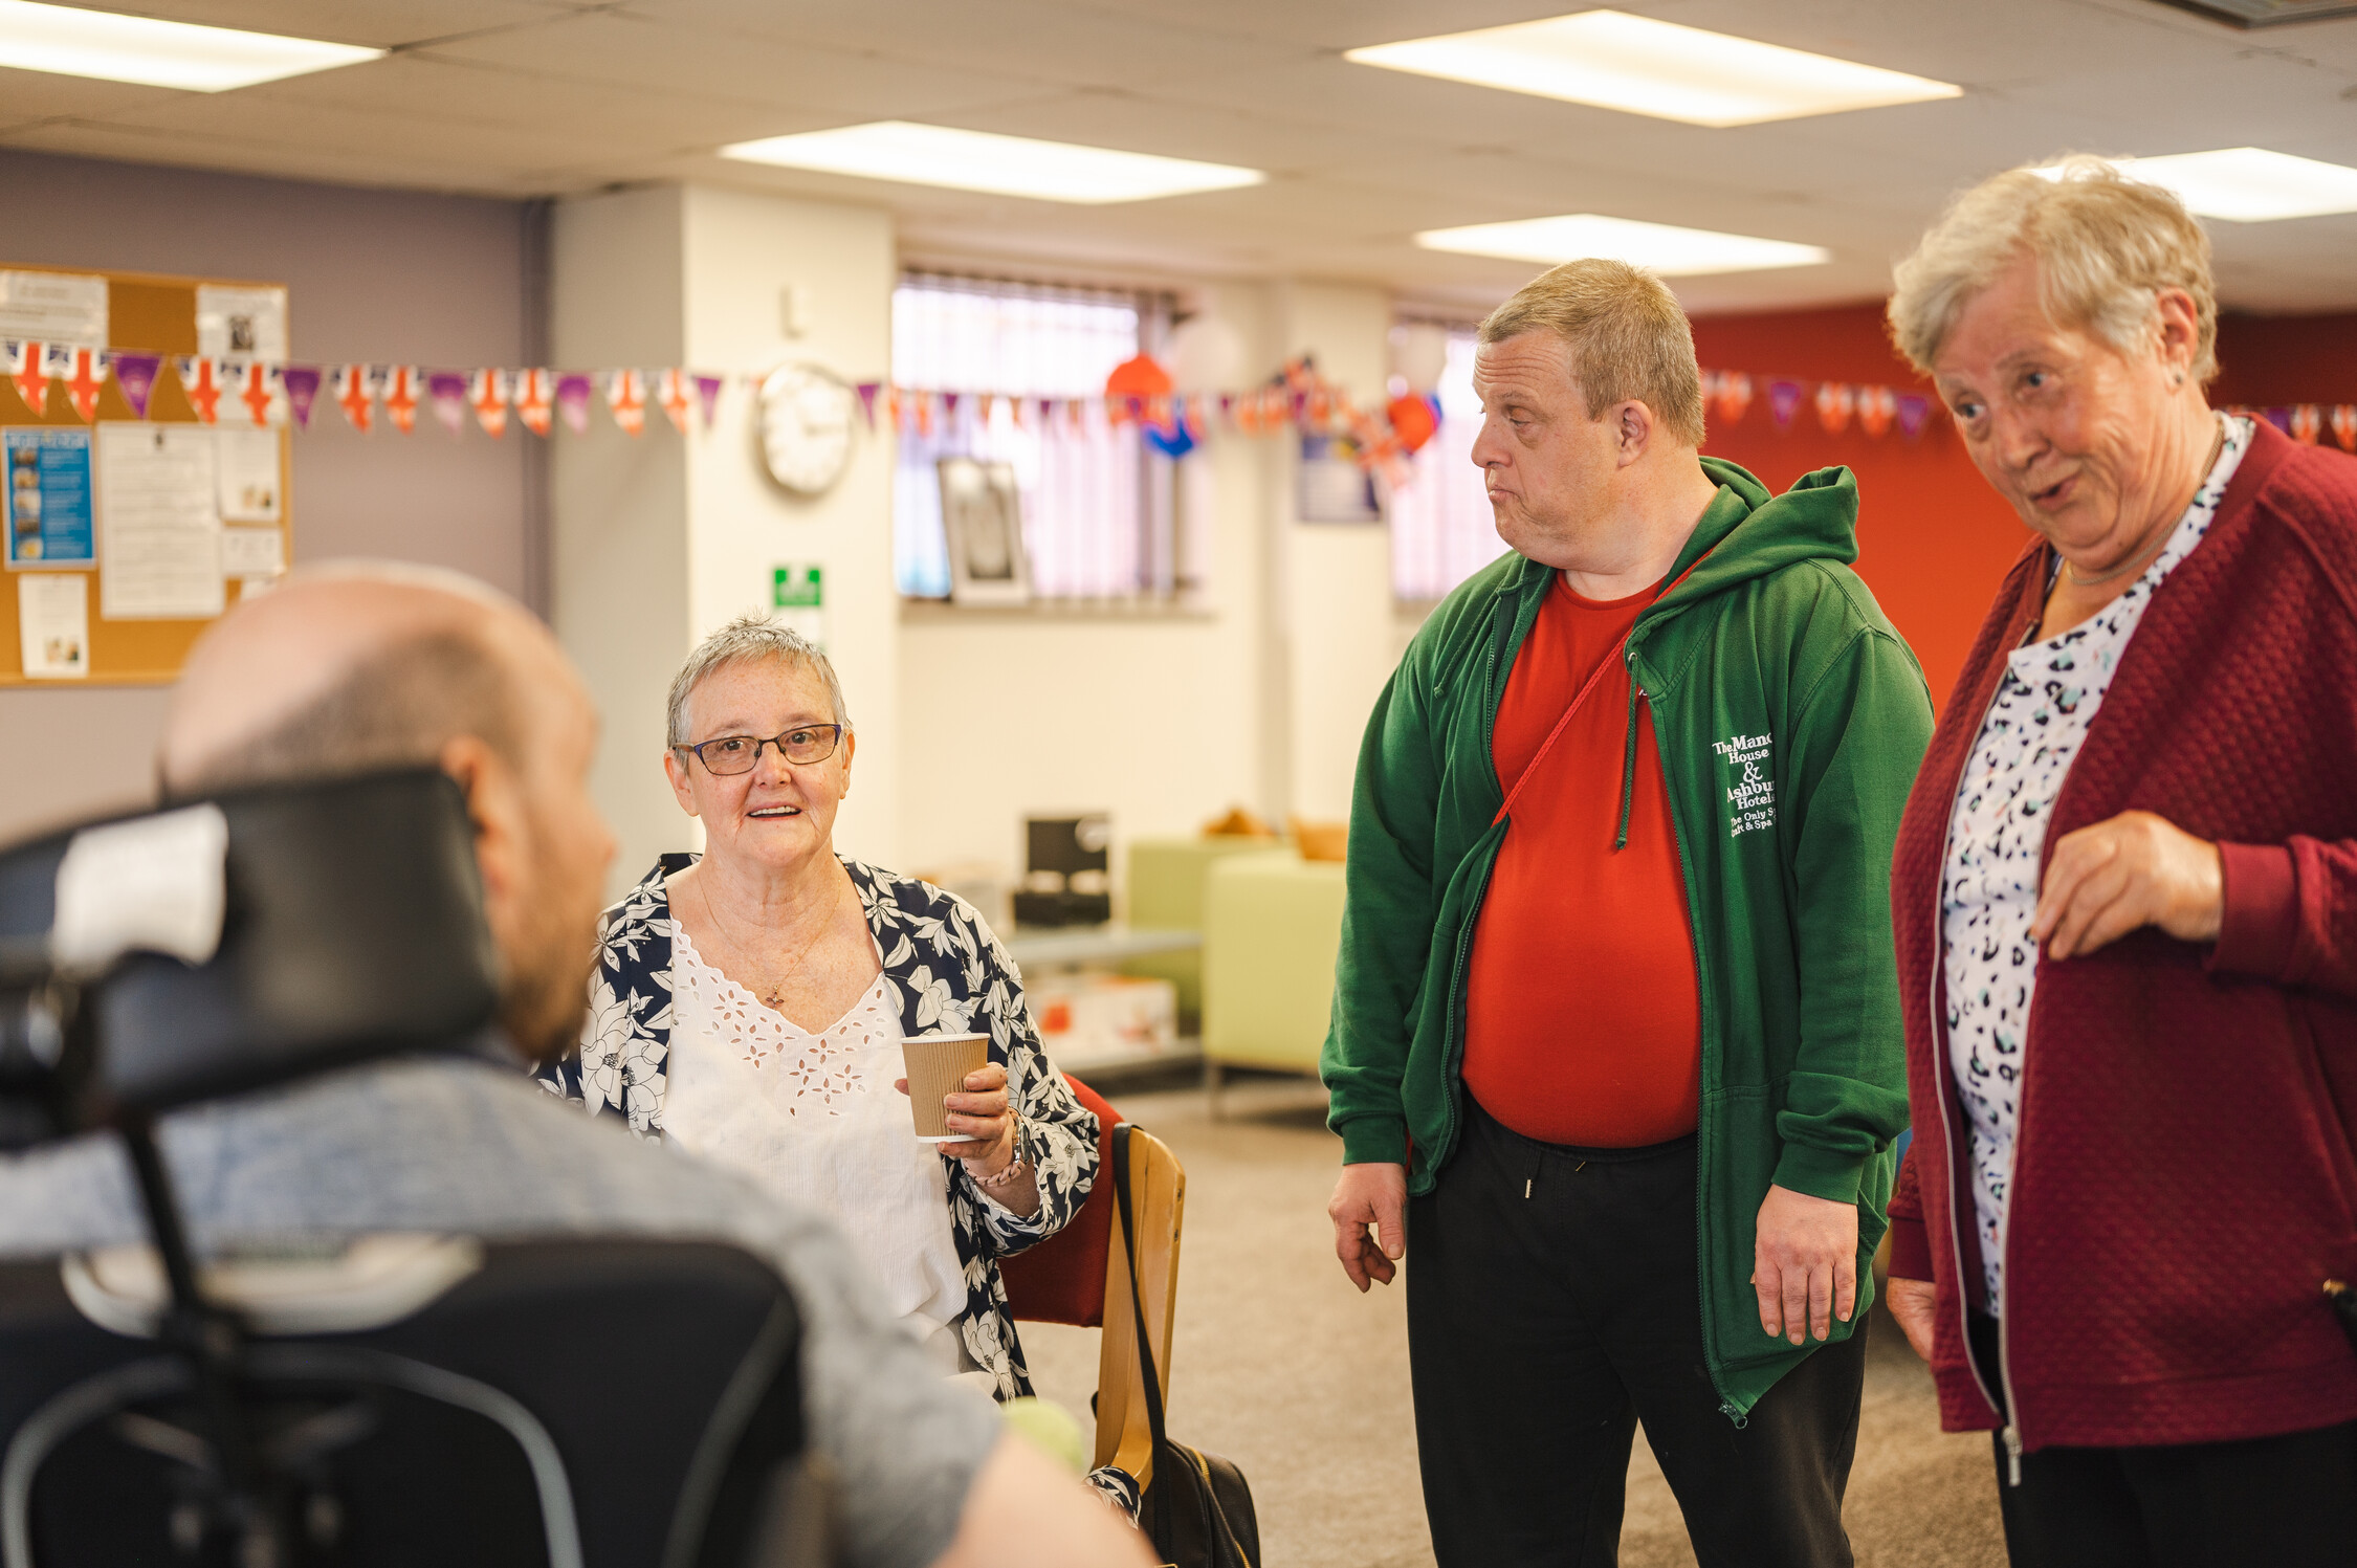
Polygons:
<instances>
[{"instance_id":1,"label":"rectangular ceiling light above the column with the wall clock","mask_svg":"<svg viewBox=\"0 0 2357 1568\"><path fill-rule=\"evenodd\" d=\"M877 120L841 130L811 130L799 137L738 141L724 146L721 158L1077 203L1230 191L1268 179L1261 170L1240 170L1228 163L1117 153L1108 146L995 137L983 130L912 125L910 120Z\"/></svg>"}]
</instances>

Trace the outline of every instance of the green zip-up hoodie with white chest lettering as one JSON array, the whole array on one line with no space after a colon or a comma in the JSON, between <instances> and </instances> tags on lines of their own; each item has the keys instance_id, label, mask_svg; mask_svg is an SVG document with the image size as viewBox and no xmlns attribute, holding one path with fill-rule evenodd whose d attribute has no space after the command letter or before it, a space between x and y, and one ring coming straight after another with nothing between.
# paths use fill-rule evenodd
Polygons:
<instances>
[{"instance_id":1,"label":"green zip-up hoodie with white chest lettering","mask_svg":"<svg viewBox=\"0 0 2357 1568\"><path fill-rule=\"evenodd\" d=\"M1907 1125L1890 844L1930 740L1914 653L1848 568L1857 481L1784 495L1716 457L1718 495L1629 634L1685 868L1702 995L1699 1278L1721 1410L1742 1422L1808 1349L1761 1332L1751 1240L1768 1186L1857 1205L1857 1313ZM1464 1120L1464 983L1511 818L1492 729L1553 571L1483 568L1407 646L1358 759L1348 903L1320 1070L1346 1162L1409 1162L1428 1193ZM1612 788L1598 780L1596 788ZM1577 898L1577 887L1563 889Z\"/></svg>"}]
</instances>

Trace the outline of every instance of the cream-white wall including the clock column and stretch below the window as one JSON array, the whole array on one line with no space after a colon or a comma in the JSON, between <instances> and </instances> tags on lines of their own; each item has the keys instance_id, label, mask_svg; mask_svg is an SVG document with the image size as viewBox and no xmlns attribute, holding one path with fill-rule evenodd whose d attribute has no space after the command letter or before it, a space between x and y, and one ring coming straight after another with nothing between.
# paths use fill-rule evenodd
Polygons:
<instances>
[{"instance_id":1,"label":"cream-white wall including the clock column and stretch below the window","mask_svg":"<svg viewBox=\"0 0 2357 1568\"><path fill-rule=\"evenodd\" d=\"M731 377L813 361L891 365L891 219L865 207L695 186L570 200L554 231L554 354L568 365L688 363ZM804 335L785 337L780 295ZM1244 375L1315 354L1379 398L1391 304L1372 288L1207 285ZM733 387L712 431L632 441L603 413L556 439L554 606L606 707L596 792L622 839L615 882L695 842L660 773L662 693L698 637L771 604L785 564L820 564L827 644L858 729L846 854L931 870L1021 868L1023 816L1113 811L1117 844L1193 832L1247 804L1341 818L1367 710L1398 660L1381 528L1296 523L1294 443L1214 436L1209 592L1176 615L903 613L891 582L891 436L794 498L759 467Z\"/></svg>"}]
</instances>

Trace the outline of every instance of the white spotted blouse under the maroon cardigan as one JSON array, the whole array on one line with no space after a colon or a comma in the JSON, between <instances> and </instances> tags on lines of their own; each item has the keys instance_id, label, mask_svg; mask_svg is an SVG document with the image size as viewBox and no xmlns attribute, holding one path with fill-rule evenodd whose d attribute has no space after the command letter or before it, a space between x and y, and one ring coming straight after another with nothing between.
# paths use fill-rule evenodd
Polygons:
<instances>
[{"instance_id":1,"label":"white spotted blouse under the maroon cardigan","mask_svg":"<svg viewBox=\"0 0 2357 1568\"><path fill-rule=\"evenodd\" d=\"M1947 821L1940 938L1947 967L1947 1061L1973 1146L1973 1217L1989 1313L2003 1311L2006 1193L2013 1127L2029 1047L2029 997L2039 983L2039 908L2046 821L2079 755L2119 658L2152 594L2194 552L2225 486L2251 448L2251 422L2225 417L2218 462L2178 519L2161 554L2112 604L2072 630L2015 648L1980 738L1963 764Z\"/></svg>"}]
</instances>

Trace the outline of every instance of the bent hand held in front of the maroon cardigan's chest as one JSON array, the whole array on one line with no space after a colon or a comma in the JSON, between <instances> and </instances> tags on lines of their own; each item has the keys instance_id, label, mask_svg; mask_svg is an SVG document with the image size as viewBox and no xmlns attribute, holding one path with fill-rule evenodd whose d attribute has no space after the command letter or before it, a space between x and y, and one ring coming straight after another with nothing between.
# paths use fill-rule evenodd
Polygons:
<instances>
[{"instance_id":1,"label":"bent hand held in front of the maroon cardigan's chest","mask_svg":"<svg viewBox=\"0 0 2357 1568\"><path fill-rule=\"evenodd\" d=\"M2121 811L2062 835L2029 934L2046 943L2046 957L2074 957L2138 927L2213 941L2223 913L2218 846L2152 811Z\"/></svg>"}]
</instances>

